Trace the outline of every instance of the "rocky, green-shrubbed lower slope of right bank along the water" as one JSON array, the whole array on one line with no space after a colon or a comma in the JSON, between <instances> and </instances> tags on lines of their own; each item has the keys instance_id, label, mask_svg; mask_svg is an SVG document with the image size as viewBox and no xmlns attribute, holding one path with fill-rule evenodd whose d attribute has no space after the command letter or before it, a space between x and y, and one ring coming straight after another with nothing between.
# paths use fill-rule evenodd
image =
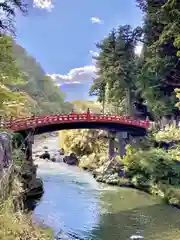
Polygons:
<instances>
[{"instance_id":1,"label":"rocky, green-shrubbed lower slope of right bank along the water","mask_svg":"<svg viewBox=\"0 0 180 240\"><path fill-rule=\"evenodd\" d=\"M97 168L94 168L94 163L93 168L92 165L84 167L80 160L80 167L89 171L98 182L138 189L180 209L179 163L160 149L131 154L123 159L115 157Z\"/></svg>"}]
</instances>

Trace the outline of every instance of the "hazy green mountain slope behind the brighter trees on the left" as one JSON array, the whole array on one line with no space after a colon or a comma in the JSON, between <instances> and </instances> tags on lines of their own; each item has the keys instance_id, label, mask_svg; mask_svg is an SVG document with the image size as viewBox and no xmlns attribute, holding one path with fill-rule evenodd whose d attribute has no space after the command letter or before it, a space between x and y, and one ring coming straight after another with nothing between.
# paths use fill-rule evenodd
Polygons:
<instances>
[{"instance_id":1,"label":"hazy green mountain slope behind the brighter trees on the left","mask_svg":"<svg viewBox=\"0 0 180 240\"><path fill-rule=\"evenodd\" d=\"M25 79L25 84L16 85L16 90L28 94L32 114L69 113L72 104L64 101L64 94L46 76L36 59L15 42L13 52Z\"/></svg>"}]
</instances>

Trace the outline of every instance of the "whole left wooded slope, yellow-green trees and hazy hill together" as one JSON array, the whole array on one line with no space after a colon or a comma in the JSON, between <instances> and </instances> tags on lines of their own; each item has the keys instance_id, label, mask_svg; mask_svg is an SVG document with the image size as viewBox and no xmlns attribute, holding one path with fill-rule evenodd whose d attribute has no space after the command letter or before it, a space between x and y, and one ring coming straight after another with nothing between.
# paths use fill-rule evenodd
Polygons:
<instances>
[{"instance_id":1,"label":"whole left wooded slope, yellow-green trees and hazy hill together","mask_svg":"<svg viewBox=\"0 0 180 240\"><path fill-rule=\"evenodd\" d=\"M72 104L46 76L36 59L11 37L0 38L1 115L69 113Z\"/></svg>"}]
</instances>

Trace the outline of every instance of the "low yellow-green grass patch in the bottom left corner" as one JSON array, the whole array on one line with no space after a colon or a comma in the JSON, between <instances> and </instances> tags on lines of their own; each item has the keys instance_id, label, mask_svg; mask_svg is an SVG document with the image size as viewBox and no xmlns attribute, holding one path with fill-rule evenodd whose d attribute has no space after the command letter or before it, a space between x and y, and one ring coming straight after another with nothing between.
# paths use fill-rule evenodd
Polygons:
<instances>
[{"instance_id":1,"label":"low yellow-green grass patch in the bottom left corner","mask_svg":"<svg viewBox=\"0 0 180 240\"><path fill-rule=\"evenodd\" d=\"M52 240L49 228L32 223L31 215L22 211L14 212L13 198L0 202L1 240Z\"/></svg>"}]
</instances>

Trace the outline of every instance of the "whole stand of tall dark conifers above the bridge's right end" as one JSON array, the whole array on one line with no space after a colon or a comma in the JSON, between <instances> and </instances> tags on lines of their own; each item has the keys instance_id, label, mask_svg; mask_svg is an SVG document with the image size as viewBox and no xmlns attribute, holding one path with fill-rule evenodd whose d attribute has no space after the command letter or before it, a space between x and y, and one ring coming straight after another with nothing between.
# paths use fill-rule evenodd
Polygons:
<instances>
[{"instance_id":1,"label":"whole stand of tall dark conifers above the bridge's right end","mask_svg":"<svg viewBox=\"0 0 180 240\"><path fill-rule=\"evenodd\" d=\"M137 0L143 27L113 29L97 44L98 78L90 89L104 111L133 114L146 103L153 118L177 116L180 88L180 2ZM140 56L135 53L142 45Z\"/></svg>"}]
</instances>

